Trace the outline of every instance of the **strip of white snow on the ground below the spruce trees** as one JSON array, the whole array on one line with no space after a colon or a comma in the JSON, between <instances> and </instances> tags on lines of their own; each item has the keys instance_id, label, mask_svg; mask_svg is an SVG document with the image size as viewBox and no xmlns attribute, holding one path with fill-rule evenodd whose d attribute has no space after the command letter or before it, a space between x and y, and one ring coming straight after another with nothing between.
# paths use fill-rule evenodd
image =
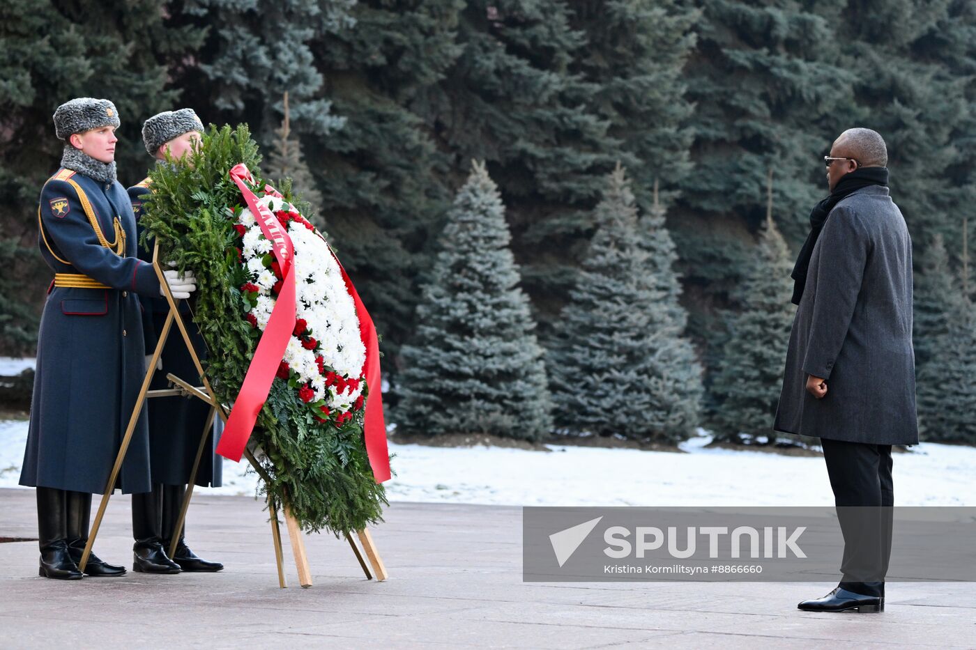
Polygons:
<instances>
[{"instance_id":1,"label":"strip of white snow on the ground below the spruce trees","mask_svg":"<svg viewBox=\"0 0 976 650\"><path fill-rule=\"evenodd\" d=\"M550 445L499 447L390 444L390 501L507 506L833 506L823 458L705 449L687 453ZM27 423L0 422L0 487L17 487ZM197 494L253 495L254 472L224 461L224 487ZM922 443L894 455L896 506L976 506L976 448Z\"/></svg>"}]
</instances>

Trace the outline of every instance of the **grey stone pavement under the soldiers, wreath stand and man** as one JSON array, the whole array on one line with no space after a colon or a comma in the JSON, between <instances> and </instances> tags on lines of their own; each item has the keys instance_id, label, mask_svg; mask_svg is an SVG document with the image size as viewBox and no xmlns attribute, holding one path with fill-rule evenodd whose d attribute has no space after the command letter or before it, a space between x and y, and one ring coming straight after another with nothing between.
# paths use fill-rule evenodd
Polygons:
<instances>
[{"instance_id":1,"label":"grey stone pavement under the soldiers, wreath stand and man","mask_svg":"<svg viewBox=\"0 0 976 650\"><path fill-rule=\"evenodd\" d=\"M36 537L34 495L0 490L0 537ZM96 546L129 563L129 500ZM315 585L278 589L269 526L248 498L190 508L188 540L223 573L37 577L34 542L0 544L0 648L976 647L976 585L889 584L883 614L811 614L831 584L521 582L520 508L395 503L367 582L346 542L306 538Z\"/></svg>"}]
</instances>

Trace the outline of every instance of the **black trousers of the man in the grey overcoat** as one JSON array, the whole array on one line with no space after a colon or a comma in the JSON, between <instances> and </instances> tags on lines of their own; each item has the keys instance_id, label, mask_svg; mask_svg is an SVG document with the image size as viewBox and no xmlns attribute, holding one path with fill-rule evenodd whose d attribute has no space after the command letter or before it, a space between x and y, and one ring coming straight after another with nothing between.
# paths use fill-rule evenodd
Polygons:
<instances>
[{"instance_id":1,"label":"black trousers of the man in the grey overcoat","mask_svg":"<svg viewBox=\"0 0 976 650\"><path fill-rule=\"evenodd\" d=\"M895 505L891 445L827 438L821 438L821 445L844 537L840 587L884 595Z\"/></svg>"}]
</instances>

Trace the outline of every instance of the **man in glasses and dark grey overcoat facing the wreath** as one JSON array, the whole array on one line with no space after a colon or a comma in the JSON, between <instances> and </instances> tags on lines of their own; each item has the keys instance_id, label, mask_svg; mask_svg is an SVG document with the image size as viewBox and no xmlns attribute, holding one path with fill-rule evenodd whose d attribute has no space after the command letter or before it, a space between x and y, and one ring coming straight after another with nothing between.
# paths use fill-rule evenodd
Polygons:
<instances>
[{"instance_id":1,"label":"man in glasses and dark grey overcoat facing the wreath","mask_svg":"<svg viewBox=\"0 0 976 650\"><path fill-rule=\"evenodd\" d=\"M840 584L803 610L883 611L891 446L918 442L912 238L887 160L870 129L834 141L831 194L814 207L793 269L798 307L774 428L821 439L844 538Z\"/></svg>"}]
</instances>

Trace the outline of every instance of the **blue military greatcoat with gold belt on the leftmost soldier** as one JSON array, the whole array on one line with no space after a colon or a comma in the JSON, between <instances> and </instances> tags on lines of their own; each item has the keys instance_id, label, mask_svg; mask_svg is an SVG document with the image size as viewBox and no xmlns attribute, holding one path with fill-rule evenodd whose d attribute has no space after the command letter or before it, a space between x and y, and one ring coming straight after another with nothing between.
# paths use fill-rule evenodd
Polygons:
<instances>
[{"instance_id":1,"label":"blue military greatcoat with gold belt on the leftmost soldier","mask_svg":"<svg viewBox=\"0 0 976 650\"><path fill-rule=\"evenodd\" d=\"M55 273L37 344L20 485L102 494L145 374L142 305L158 296L137 258L136 219L121 183L61 168L41 191L38 245ZM145 410L119 483L148 492Z\"/></svg>"}]
</instances>

